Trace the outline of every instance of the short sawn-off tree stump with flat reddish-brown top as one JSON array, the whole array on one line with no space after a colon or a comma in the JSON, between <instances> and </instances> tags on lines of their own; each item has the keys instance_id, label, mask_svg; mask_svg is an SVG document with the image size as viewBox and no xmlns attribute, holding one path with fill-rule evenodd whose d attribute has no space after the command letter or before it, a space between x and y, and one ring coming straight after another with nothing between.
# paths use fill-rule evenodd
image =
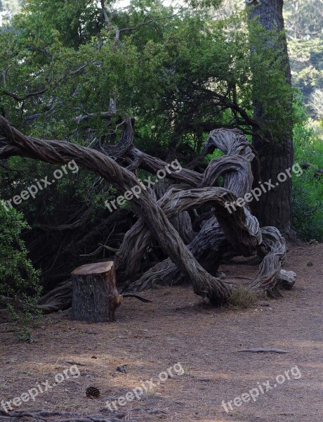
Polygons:
<instances>
[{"instance_id":1,"label":"short sawn-off tree stump with flat reddish-brown top","mask_svg":"<svg viewBox=\"0 0 323 422\"><path fill-rule=\"evenodd\" d=\"M122 302L116 286L114 262L98 262L72 272L72 319L74 321L114 321Z\"/></svg>"}]
</instances>

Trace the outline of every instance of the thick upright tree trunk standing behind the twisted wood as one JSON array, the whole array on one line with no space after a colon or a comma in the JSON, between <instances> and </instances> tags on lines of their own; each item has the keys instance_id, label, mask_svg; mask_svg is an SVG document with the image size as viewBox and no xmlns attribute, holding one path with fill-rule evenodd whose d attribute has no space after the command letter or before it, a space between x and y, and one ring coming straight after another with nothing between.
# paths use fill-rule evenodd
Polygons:
<instances>
[{"instance_id":1,"label":"thick upright tree trunk standing behind the twisted wood","mask_svg":"<svg viewBox=\"0 0 323 422\"><path fill-rule=\"evenodd\" d=\"M271 54L271 56L272 51L277 52L273 66L277 65L277 63L281 64L282 79L291 87L291 69L282 15L283 0L246 0L246 6L249 25L252 25L253 20L256 18L258 19L258 23L268 31L265 42L259 47L255 38L257 37L257 32L249 30L251 63L252 57L256 57L260 53L259 49L262 49L262 54L265 52L265 49L268 49L268 55ZM270 80L271 70L271 68L266 70L268 71L268 75L255 75L256 69L253 68L254 78L258 77L258 80L261 80L260 83L264 89L266 89L266 84ZM268 87L268 89L270 88ZM261 179L263 181L269 181L271 179L275 188L264 193L259 198L259 202L253 201L251 209L261 226L275 226L285 236L291 236L291 177L288 176L286 181L277 179L280 173L286 174L286 170L291 169L294 156L291 91L290 94L286 94L286 97L277 99L280 102L280 106L282 106L282 101L284 102L282 108L286 116L288 116L282 122L282 129L279 132L279 136L274 135L268 144L263 141L263 136L253 136L253 145L258 152L261 162ZM274 116L270 115L270 113L264 113L263 103L256 100L256 98L253 99L255 119L267 122L267 127L270 129L270 122L277 120L277 115ZM270 138L270 136L268 137Z\"/></svg>"}]
</instances>

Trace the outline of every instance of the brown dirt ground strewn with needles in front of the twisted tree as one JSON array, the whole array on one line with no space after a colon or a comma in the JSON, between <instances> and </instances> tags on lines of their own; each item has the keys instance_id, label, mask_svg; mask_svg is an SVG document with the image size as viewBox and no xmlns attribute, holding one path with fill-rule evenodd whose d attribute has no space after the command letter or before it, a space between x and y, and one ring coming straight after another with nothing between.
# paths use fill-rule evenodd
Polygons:
<instances>
[{"instance_id":1,"label":"brown dirt ground strewn with needles in front of the twisted tree","mask_svg":"<svg viewBox=\"0 0 323 422\"><path fill-rule=\"evenodd\" d=\"M270 306L213 309L189 288L168 287L143 293L153 303L126 298L114 324L44 317L32 330L34 343L18 343L2 325L0 401L48 380L51 389L13 408L116 421L322 422L322 260L322 244L290 246L284 268L296 271L296 285ZM229 278L256 271L242 265L220 270ZM239 352L250 347L288 353ZM120 365L126 373L116 370ZM86 397L89 386L100 390L99 398ZM131 401L133 388L139 399ZM256 401L250 390L253 396L258 392ZM127 392L121 406L118 399ZM106 402L113 410L114 400L112 412ZM223 400L232 401L228 413Z\"/></svg>"}]
</instances>

